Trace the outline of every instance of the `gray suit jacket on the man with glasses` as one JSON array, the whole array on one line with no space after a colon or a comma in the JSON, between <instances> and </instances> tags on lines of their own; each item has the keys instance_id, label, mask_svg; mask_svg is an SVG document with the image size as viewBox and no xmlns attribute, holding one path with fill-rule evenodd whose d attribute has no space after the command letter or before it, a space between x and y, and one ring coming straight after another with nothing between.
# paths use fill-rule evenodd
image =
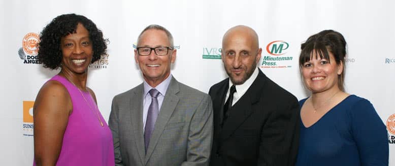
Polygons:
<instances>
[{"instance_id":1,"label":"gray suit jacket on the man with glasses","mask_svg":"<svg viewBox=\"0 0 395 166\"><path fill-rule=\"evenodd\" d=\"M208 94L172 78L145 152L144 85L112 101L109 126L116 165L208 165L213 137L213 107Z\"/></svg>"}]
</instances>

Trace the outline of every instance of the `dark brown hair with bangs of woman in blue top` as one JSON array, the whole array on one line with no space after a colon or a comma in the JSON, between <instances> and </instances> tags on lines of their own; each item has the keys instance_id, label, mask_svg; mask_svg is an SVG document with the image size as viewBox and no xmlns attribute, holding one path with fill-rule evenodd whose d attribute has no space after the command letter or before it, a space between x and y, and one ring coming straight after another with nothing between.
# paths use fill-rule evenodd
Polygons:
<instances>
[{"instance_id":1,"label":"dark brown hair with bangs of woman in blue top","mask_svg":"<svg viewBox=\"0 0 395 166\"><path fill-rule=\"evenodd\" d=\"M299 68L302 70L303 64L313 58L313 53L315 53L316 58L319 56L321 59L325 58L331 63L329 58L329 52L331 52L335 57L336 64L340 64L340 62L343 64L343 72L338 75L338 87L344 91L346 46L347 43L342 34L335 30L322 30L318 34L309 37L301 45L302 51L299 56Z\"/></svg>"}]
</instances>

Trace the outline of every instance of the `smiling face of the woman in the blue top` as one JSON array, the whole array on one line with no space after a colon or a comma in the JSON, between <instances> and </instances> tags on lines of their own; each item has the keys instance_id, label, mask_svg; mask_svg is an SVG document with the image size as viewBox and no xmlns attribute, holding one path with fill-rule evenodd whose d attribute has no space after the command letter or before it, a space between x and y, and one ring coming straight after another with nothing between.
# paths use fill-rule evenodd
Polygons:
<instances>
[{"instance_id":1,"label":"smiling face of the woman in the blue top","mask_svg":"<svg viewBox=\"0 0 395 166\"><path fill-rule=\"evenodd\" d=\"M302 65L302 75L306 87L313 93L319 93L332 89L339 89L338 78L343 72L342 61L336 63L331 52L328 52L330 59L316 56L313 51L309 61Z\"/></svg>"}]
</instances>

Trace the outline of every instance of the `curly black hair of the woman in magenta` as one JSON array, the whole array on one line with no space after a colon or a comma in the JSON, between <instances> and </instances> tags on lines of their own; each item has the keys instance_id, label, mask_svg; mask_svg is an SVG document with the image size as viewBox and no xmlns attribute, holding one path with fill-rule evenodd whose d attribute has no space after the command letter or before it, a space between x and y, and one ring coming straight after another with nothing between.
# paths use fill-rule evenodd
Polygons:
<instances>
[{"instance_id":1,"label":"curly black hair of the woman in magenta","mask_svg":"<svg viewBox=\"0 0 395 166\"><path fill-rule=\"evenodd\" d=\"M108 39L103 38L103 32L97 29L90 19L76 14L63 14L54 18L40 34L37 57L43 63L44 68L54 70L61 67L63 55L60 40L62 37L76 33L78 23L89 31L93 49L91 63L100 59L101 55L107 54Z\"/></svg>"}]
</instances>

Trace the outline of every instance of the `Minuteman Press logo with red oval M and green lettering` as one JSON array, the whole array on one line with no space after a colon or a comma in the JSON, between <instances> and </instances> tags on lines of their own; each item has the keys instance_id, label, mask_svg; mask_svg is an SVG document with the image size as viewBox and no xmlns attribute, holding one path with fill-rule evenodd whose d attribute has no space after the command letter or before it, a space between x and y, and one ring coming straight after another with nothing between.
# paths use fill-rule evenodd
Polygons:
<instances>
[{"instance_id":1,"label":"Minuteman Press logo with red oval M and green lettering","mask_svg":"<svg viewBox=\"0 0 395 166\"><path fill-rule=\"evenodd\" d=\"M262 63L260 68L291 68L290 65L292 56L285 56L287 50L289 48L289 44L285 41L273 41L270 42L266 46L266 52L268 53L263 55Z\"/></svg>"}]
</instances>

